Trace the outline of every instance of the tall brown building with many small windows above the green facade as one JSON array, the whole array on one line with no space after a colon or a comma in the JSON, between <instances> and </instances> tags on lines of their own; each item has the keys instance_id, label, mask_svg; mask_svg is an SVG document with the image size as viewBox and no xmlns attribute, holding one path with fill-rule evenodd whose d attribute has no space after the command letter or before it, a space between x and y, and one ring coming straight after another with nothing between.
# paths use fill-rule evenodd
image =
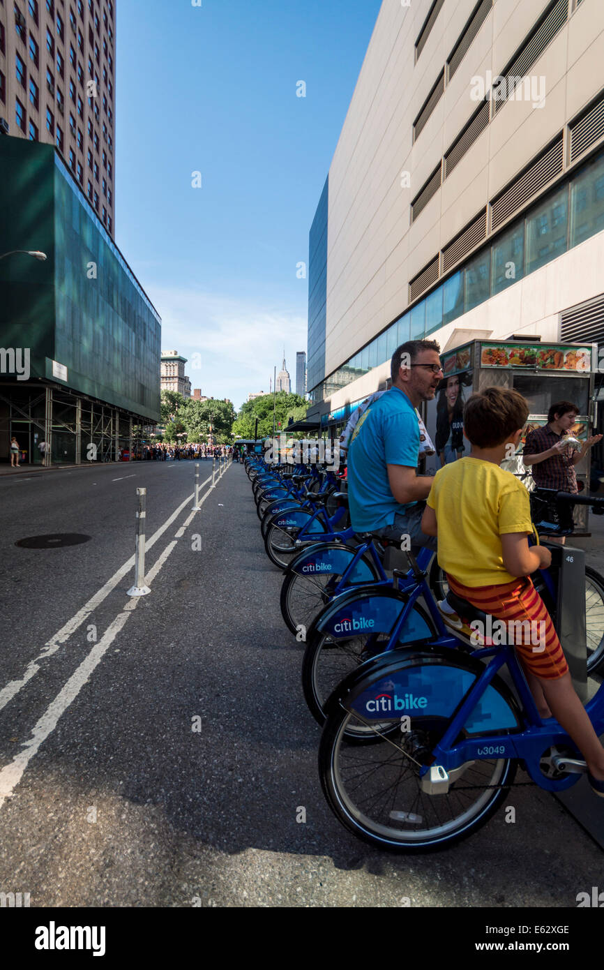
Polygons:
<instances>
[{"instance_id":1,"label":"tall brown building with many small windows above the green facade","mask_svg":"<svg viewBox=\"0 0 604 970\"><path fill-rule=\"evenodd\" d=\"M0 3L0 133L56 146L111 236L115 2Z\"/></svg>"}]
</instances>

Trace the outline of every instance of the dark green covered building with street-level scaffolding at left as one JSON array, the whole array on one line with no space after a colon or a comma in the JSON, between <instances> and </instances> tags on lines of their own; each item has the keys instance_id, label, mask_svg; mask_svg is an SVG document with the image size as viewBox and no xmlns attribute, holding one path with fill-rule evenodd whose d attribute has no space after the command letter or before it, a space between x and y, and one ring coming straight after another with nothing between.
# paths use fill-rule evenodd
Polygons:
<instances>
[{"instance_id":1,"label":"dark green covered building with street-level scaffolding at left","mask_svg":"<svg viewBox=\"0 0 604 970\"><path fill-rule=\"evenodd\" d=\"M52 146L0 137L0 460L79 464L160 417L161 320ZM92 445L92 447L91 447Z\"/></svg>"}]
</instances>

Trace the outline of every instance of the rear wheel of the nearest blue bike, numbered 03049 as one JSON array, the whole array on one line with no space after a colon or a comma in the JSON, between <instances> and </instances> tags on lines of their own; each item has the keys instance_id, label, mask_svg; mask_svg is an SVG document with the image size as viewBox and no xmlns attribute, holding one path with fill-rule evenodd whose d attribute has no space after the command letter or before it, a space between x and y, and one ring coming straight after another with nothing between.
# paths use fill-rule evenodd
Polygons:
<instances>
[{"instance_id":1,"label":"rear wheel of the nearest blue bike, numbered 03049","mask_svg":"<svg viewBox=\"0 0 604 970\"><path fill-rule=\"evenodd\" d=\"M449 791L423 792L419 764L442 736L447 720L400 732L399 719L380 724L370 745L350 744L359 724L336 708L319 747L321 786L335 817L349 831L380 849L432 852L452 845L485 824L506 797L516 760L468 761Z\"/></svg>"}]
</instances>

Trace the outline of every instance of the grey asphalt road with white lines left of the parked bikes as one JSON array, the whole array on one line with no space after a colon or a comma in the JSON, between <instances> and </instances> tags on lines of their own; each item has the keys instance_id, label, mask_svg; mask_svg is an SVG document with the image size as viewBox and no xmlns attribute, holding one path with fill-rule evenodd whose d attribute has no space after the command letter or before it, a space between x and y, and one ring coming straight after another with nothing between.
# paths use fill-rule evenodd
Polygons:
<instances>
[{"instance_id":1,"label":"grey asphalt road with white lines left of the parked bikes","mask_svg":"<svg viewBox=\"0 0 604 970\"><path fill-rule=\"evenodd\" d=\"M247 477L232 466L192 514L193 472L0 479L0 891L45 907L574 907L600 885L601 851L534 787L511 793L514 824L502 806L436 855L391 856L337 823ZM181 510L133 600L118 570L137 486L147 538ZM91 538L16 547L40 533Z\"/></svg>"}]
</instances>

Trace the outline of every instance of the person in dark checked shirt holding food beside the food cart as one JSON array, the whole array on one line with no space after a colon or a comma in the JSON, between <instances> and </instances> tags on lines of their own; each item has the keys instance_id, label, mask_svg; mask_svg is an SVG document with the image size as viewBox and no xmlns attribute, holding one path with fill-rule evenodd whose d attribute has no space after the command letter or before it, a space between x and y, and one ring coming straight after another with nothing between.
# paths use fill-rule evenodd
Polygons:
<instances>
[{"instance_id":1,"label":"person in dark checked shirt holding food beside the food cart","mask_svg":"<svg viewBox=\"0 0 604 970\"><path fill-rule=\"evenodd\" d=\"M580 448L567 441L576 422L579 408L570 401L557 401L548 411L548 423L526 436L523 462L529 468L537 488L555 488L558 492L579 492L575 466L586 457L589 448L601 435L592 435ZM565 514L564 514L565 513ZM560 526L570 528L572 509L558 509ZM559 541L564 544L564 536Z\"/></svg>"}]
</instances>

